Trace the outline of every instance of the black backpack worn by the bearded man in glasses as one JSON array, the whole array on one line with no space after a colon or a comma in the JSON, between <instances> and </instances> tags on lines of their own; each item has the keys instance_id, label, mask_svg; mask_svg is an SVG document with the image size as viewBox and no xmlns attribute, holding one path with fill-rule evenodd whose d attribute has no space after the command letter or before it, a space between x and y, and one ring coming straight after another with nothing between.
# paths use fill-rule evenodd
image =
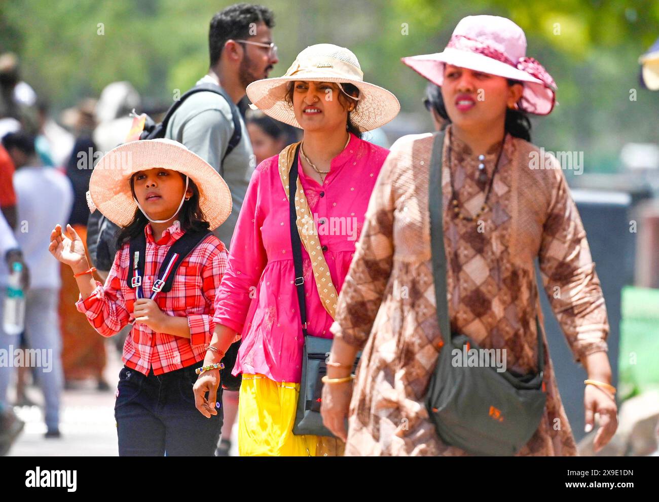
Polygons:
<instances>
[{"instance_id":1,"label":"black backpack worn by the bearded man in glasses","mask_svg":"<svg viewBox=\"0 0 659 502\"><path fill-rule=\"evenodd\" d=\"M215 84L199 84L188 90L178 101L169 107L169 110L167 110L167 113L165 114L165 118L159 124L156 124L151 117L146 115L144 129L142 130L142 134L140 134L140 140L164 138L165 132L167 132L167 124L169 124L169 120L172 115L174 115L174 112L179 109L183 104L183 101L192 96L192 94L198 92L213 92L214 94L218 94L227 100L227 103L229 103L229 107L231 108L233 134L231 135L231 138L229 138L227 150L222 157L222 163L224 163L224 159L227 155L229 155L229 153L231 153L241 142L243 136L240 120L241 112L235 103L231 101L231 98L229 98L229 95L225 90ZM220 175L223 175L222 165L220 165L219 173ZM99 270L106 271L112 267L115 254L117 254L117 250L119 250L115 238L118 230L119 227L103 216L100 211L94 211L94 213L90 214L87 222L87 248L92 264Z\"/></svg>"}]
</instances>

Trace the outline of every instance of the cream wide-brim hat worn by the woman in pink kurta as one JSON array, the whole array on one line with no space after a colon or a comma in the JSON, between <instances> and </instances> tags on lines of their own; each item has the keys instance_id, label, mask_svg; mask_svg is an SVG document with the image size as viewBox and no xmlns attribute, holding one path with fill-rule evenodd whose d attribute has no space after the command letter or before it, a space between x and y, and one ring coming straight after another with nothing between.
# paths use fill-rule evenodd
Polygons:
<instances>
[{"instance_id":1,"label":"cream wide-brim hat worn by the woman in pink kurta","mask_svg":"<svg viewBox=\"0 0 659 502\"><path fill-rule=\"evenodd\" d=\"M247 96L254 107L273 119L302 128L295 118L293 105L286 100L289 82L335 82L353 84L359 89L357 107L350 112L351 122L361 132L385 125L398 115L401 105L393 93L364 82L357 56L345 47L318 43L306 47L293 65L278 78L256 80L247 86Z\"/></svg>"}]
</instances>

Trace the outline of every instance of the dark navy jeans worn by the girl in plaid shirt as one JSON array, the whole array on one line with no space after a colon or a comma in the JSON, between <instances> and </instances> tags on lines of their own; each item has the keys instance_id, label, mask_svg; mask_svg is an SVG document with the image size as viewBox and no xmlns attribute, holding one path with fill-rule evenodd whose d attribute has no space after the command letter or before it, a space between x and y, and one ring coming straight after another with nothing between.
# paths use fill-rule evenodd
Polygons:
<instances>
[{"instance_id":1,"label":"dark navy jeans worn by the girl in plaid shirt","mask_svg":"<svg viewBox=\"0 0 659 502\"><path fill-rule=\"evenodd\" d=\"M121 457L214 455L223 410L206 418L194 406L198 366L202 363L158 376L122 368L115 402ZM222 402L221 387L217 402Z\"/></svg>"}]
</instances>

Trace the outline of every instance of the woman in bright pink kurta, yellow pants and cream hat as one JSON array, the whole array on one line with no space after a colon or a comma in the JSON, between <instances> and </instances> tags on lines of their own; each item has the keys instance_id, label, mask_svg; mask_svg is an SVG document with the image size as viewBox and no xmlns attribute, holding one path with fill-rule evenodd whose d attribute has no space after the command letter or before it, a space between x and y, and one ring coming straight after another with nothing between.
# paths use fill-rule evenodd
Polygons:
<instances>
[{"instance_id":1,"label":"woman in bright pink kurta, yellow pants and cream hat","mask_svg":"<svg viewBox=\"0 0 659 502\"><path fill-rule=\"evenodd\" d=\"M215 296L216 326L205 364L219 362L242 336L233 369L243 374L241 455L336 455L343 446L334 438L293 434L304 333L294 283L289 170L297 164L293 231L302 241L306 334L331 338L338 292L389 153L361 134L393 119L399 104L387 90L363 81L353 53L330 44L307 47L285 76L254 82L247 95L267 115L302 128L304 136L252 175L229 269ZM217 370L195 385L204 416L215 413L218 385Z\"/></svg>"}]
</instances>

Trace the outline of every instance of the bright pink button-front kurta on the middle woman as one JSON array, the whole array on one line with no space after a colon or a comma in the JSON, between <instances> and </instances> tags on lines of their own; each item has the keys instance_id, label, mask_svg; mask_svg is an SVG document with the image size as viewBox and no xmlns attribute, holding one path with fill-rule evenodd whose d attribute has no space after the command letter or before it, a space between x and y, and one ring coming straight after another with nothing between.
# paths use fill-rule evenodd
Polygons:
<instances>
[{"instance_id":1,"label":"bright pink button-front kurta on the middle woman","mask_svg":"<svg viewBox=\"0 0 659 502\"><path fill-rule=\"evenodd\" d=\"M337 292L348 272L364 213L384 159L385 148L351 134L331 161L324 184L298 171L320 244ZM263 374L299 382L304 337L293 279L289 202L275 155L256 167L229 250L227 269L215 296L216 323L242 333L234 374ZM332 318L323 308L309 256L302 247L308 333L331 338Z\"/></svg>"}]
</instances>

